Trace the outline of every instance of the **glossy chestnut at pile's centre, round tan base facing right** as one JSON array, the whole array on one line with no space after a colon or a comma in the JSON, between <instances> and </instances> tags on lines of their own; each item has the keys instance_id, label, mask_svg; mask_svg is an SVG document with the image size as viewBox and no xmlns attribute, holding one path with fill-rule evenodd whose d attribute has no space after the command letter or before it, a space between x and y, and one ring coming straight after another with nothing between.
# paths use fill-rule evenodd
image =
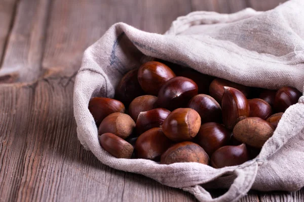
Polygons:
<instances>
[{"instance_id":1,"label":"glossy chestnut at pile's centre, round tan base facing right","mask_svg":"<svg viewBox=\"0 0 304 202\"><path fill-rule=\"evenodd\" d=\"M169 114L161 128L169 139L179 142L192 140L200 126L201 117L195 110L179 108Z\"/></svg>"}]
</instances>

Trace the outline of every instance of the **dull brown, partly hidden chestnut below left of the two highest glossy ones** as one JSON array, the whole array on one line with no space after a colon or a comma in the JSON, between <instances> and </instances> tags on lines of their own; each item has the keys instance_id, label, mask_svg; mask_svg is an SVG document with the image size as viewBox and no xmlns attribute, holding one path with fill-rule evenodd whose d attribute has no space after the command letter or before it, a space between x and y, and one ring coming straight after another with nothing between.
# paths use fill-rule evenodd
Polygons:
<instances>
[{"instance_id":1,"label":"dull brown, partly hidden chestnut below left of the two highest glossy ones","mask_svg":"<svg viewBox=\"0 0 304 202\"><path fill-rule=\"evenodd\" d=\"M137 117L140 112L146 112L156 108L157 97L154 95L142 95L133 99L129 106L129 115L134 121L137 121Z\"/></svg>"}]
</instances>

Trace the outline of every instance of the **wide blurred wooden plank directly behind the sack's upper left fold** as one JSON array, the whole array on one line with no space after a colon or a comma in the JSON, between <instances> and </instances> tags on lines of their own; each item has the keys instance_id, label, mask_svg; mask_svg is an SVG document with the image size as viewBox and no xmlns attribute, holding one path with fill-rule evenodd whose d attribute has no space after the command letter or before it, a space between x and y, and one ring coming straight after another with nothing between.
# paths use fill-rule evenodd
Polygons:
<instances>
[{"instance_id":1,"label":"wide blurred wooden plank directly behind the sack's upper left fold","mask_svg":"<svg viewBox=\"0 0 304 202\"><path fill-rule=\"evenodd\" d=\"M80 68L84 50L111 25L125 22L145 31L163 33L174 19L191 12L191 6L182 0L54 0L51 10L43 68L46 75L60 71L72 75Z\"/></svg>"}]
</instances>

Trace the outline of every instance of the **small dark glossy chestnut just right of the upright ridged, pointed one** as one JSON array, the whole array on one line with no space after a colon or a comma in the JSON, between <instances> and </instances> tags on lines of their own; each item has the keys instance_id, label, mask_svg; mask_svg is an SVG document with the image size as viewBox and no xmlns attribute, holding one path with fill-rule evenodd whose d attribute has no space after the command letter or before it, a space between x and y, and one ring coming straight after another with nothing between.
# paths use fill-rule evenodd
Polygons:
<instances>
[{"instance_id":1,"label":"small dark glossy chestnut just right of the upright ridged, pointed one","mask_svg":"<svg viewBox=\"0 0 304 202\"><path fill-rule=\"evenodd\" d=\"M266 120L272 114L271 106L263 99L248 99L248 104L250 109L249 117L259 117Z\"/></svg>"}]
</instances>

